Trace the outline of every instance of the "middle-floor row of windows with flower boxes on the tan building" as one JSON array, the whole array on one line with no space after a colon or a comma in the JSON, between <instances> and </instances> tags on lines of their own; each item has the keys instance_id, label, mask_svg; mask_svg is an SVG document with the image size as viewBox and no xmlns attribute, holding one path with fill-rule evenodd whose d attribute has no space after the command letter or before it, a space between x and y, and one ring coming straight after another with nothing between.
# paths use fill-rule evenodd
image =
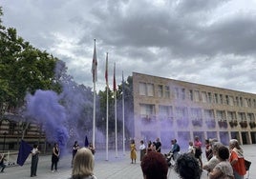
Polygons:
<instances>
[{"instance_id":1,"label":"middle-floor row of windows with flower boxes on the tan building","mask_svg":"<svg viewBox=\"0 0 256 179\"><path fill-rule=\"evenodd\" d=\"M140 104L139 113L142 116L156 116L156 106L151 104ZM172 106L159 106L158 116L187 118L192 119L217 119L217 120L238 120L238 121L255 121L255 114L242 111L228 111L218 109L200 109L200 108L186 108Z\"/></svg>"}]
</instances>

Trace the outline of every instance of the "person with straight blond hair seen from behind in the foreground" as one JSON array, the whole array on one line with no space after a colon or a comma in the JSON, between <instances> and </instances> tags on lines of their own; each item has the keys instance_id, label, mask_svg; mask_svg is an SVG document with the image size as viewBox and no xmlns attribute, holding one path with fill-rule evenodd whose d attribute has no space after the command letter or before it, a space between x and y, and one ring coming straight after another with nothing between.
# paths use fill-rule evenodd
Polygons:
<instances>
[{"instance_id":1,"label":"person with straight blond hair seen from behind in the foreground","mask_svg":"<svg viewBox=\"0 0 256 179\"><path fill-rule=\"evenodd\" d=\"M96 179L94 167L95 161L92 151L87 148L78 149L74 158L71 179Z\"/></svg>"}]
</instances>

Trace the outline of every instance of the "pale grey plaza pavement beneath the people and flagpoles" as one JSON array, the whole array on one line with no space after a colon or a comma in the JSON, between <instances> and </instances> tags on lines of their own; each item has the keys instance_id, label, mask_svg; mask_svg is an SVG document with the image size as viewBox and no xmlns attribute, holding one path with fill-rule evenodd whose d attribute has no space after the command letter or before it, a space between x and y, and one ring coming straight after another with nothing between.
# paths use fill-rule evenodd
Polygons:
<instances>
[{"instance_id":1,"label":"pale grey plaza pavement beneath the people and flagpoles","mask_svg":"<svg viewBox=\"0 0 256 179\"><path fill-rule=\"evenodd\" d=\"M250 179L256 179L256 145L242 146L245 152L245 158L252 162L249 175L245 175L245 179L249 176ZM163 150L164 153L164 150ZM139 152L138 152L139 156ZM109 151L108 160L106 160L105 151L97 151L95 160L95 174L97 179L142 179L140 162L131 164L129 150ZM72 154L62 157L58 163L58 171L51 172L51 155L41 155L39 158L36 179L68 179L71 176L71 158ZM14 160L14 159L13 159ZM23 167L12 166L5 169L4 173L0 173L0 179L24 179L30 177L31 158L29 157ZM205 156L203 154L203 162ZM169 179L179 179L179 176L173 169L168 172ZM203 171L202 179L207 179L206 172Z\"/></svg>"}]
</instances>

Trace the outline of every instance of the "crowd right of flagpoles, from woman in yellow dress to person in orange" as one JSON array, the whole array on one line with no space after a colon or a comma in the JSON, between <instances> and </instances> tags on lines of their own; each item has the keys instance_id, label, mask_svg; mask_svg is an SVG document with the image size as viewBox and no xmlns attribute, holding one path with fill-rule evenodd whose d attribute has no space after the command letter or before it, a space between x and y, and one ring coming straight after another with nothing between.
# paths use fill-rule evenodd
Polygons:
<instances>
[{"instance_id":1,"label":"crowd right of flagpoles, from woman in yellow dress to person in orange","mask_svg":"<svg viewBox=\"0 0 256 179\"><path fill-rule=\"evenodd\" d=\"M177 140L171 140L172 148L167 154L160 153L160 138L156 142L148 142L146 147L144 141L140 141L140 166L146 179L166 179L168 173L168 157L171 155L175 161L175 171L181 179L200 179L203 169L208 173L209 179L244 179L246 174L245 157L243 149L238 140L231 139L229 147L221 142L205 140L206 163L203 164L203 143L198 136L194 141L189 141L187 152L180 153ZM131 159L136 162L136 145L131 140ZM153 152L152 152L153 151ZM155 151L155 152L154 152Z\"/></svg>"}]
</instances>

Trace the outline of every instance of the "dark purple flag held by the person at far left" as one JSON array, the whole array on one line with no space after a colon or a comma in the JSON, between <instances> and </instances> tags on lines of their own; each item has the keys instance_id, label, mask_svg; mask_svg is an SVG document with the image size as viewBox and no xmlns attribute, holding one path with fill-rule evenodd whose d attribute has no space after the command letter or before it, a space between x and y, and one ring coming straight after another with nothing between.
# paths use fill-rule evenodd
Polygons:
<instances>
[{"instance_id":1,"label":"dark purple flag held by the person at far left","mask_svg":"<svg viewBox=\"0 0 256 179\"><path fill-rule=\"evenodd\" d=\"M20 166L23 166L31 152L32 152L32 147L28 143L26 143L24 140L21 140L18 158L17 158L17 164Z\"/></svg>"}]
</instances>

